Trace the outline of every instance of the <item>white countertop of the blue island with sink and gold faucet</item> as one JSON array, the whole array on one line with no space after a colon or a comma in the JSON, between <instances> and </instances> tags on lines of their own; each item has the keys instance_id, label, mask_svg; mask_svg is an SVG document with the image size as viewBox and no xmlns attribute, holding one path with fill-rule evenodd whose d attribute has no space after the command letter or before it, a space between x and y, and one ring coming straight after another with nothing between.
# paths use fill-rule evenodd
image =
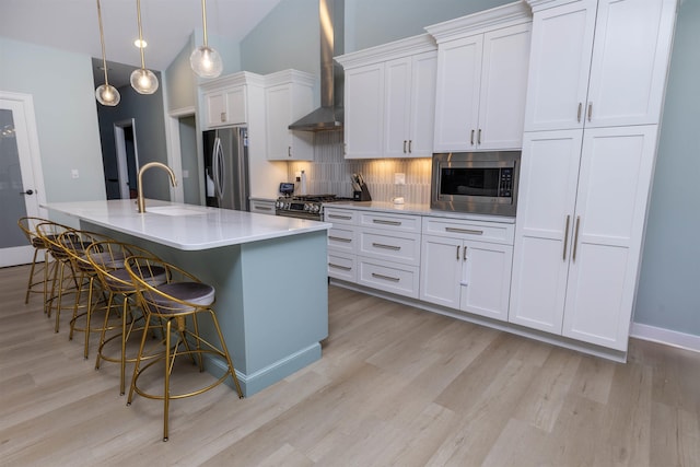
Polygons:
<instances>
[{"instance_id":1,"label":"white countertop of the blue island with sink and gold faucet","mask_svg":"<svg viewBox=\"0 0 700 467\"><path fill-rule=\"evenodd\" d=\"M184 250L238 245L331 227L325 222L153 199L145 200L144 213L137 212L133 199L49 202L43 207Z\"/></svg>"}]
</instances>

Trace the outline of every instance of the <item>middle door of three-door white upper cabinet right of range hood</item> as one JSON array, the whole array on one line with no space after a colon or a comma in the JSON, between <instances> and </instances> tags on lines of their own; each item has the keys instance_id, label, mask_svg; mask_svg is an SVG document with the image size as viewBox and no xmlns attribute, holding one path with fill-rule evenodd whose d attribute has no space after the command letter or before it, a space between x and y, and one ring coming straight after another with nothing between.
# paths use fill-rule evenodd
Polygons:
<instances>
[{"instance_id":1,"label":"middle door of three-door white upper cabinet right of range hood","mask_svg":"<svg viewBox=\"0 0 700 467\"><path fill-rule=\"evenodd\" d=\"M384 65L384 156L405 157L408 154L410 120L411 58L404 57Z\"/></svg>"}]
</instances>

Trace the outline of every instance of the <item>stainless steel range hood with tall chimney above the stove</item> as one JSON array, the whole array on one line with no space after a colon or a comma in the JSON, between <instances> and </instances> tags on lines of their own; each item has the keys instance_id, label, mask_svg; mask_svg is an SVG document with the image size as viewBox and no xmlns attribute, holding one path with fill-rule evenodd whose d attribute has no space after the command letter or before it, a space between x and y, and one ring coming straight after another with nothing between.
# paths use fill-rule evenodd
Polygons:
<instances>
[{"instance_id":1,"label":"stainless steel range hood with tall chimney above the stove","mask_svg":"<svg viewBox=\"0 0 700 467\"><path fill-rule=\"evenodd\" d=\"M319 0L320 24L320 107L294 121L290 130L341 130L343 122L342 93L345 75L332 57L342 54L343 0Z\"/></svg>"}]
</instances>

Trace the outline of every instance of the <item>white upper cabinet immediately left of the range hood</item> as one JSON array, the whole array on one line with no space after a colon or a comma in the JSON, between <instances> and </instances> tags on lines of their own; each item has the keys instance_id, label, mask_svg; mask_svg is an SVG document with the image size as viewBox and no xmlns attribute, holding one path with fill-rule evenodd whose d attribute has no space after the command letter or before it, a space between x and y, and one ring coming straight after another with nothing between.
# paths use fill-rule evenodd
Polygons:
<instances>
[{"instance_id":1,"label":"white upper cabinet immediately left of the range hood","mask_svg":"<svg viewBox=\"0 0 700 467\"><path fill-rule=\"evenodd\" d=\"M272 161L313 160L313 133L289 129L291 124L313 110L313 75L296 70L285 70L265 78L267 159Z\"/></svg>"}]
</instances>

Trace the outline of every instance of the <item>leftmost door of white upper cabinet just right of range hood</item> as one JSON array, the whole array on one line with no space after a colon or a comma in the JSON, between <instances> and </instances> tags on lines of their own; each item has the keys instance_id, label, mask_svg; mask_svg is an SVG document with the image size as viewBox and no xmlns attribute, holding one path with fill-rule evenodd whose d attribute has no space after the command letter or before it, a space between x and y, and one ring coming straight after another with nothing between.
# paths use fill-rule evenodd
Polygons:
<instances>
[{"instance_id":1,"label":"leftmost door of white upper cabinet just right of range hood","mask_svg":"<svg viewBox=\"0 0 700 467\"><path fill-rule=\"evenodd\" d=\"M380 157L384 144L384 63L346 71L346 157Z\"/></svg>"}]
</instances>

